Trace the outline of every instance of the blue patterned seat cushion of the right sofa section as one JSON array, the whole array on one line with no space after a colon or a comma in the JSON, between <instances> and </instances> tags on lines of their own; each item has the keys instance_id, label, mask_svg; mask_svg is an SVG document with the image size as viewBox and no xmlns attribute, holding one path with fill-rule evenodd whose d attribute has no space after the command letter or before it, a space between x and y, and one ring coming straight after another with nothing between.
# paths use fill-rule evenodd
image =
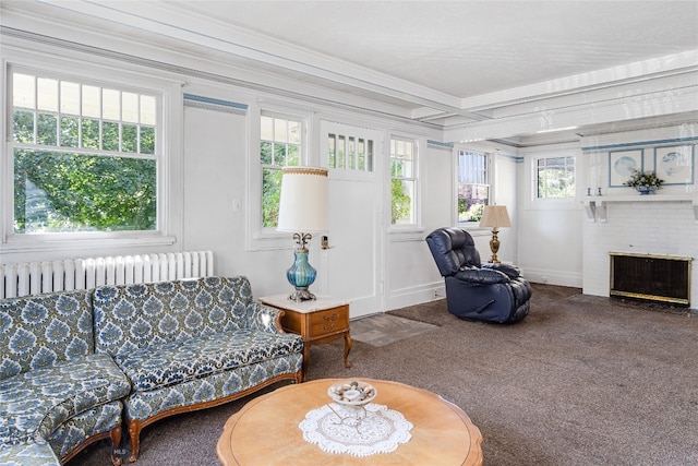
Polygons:
<instances>
[{"instance_id":1,"label":"blue patterned seat cushion of the right sofa section","mask_svg":"<svg viewBox=\"0 0 698 466\"><path fill-rule=\"evenodd\" d=\"M202 379L242 366L303 350L294 334L238 330L169 342L143 348L115 360L133 383L133 390L151 391Z\"/></svg>"}]
</instances>

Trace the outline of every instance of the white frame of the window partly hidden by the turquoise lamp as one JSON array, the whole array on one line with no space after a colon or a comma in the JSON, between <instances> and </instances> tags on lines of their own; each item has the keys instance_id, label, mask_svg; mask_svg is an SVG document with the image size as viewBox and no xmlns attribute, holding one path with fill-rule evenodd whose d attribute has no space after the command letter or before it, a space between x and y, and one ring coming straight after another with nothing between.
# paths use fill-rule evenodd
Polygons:
<instances>
[{"instance_id":1,"label":"white frame of the window partly hidden by the turquoise lamp","mask_svg":"<svg viewBox=\"0 0 698 466\"><path fill-rule=\"evenodd\" d=\"M260 159L262 131L262 116L291 119L301 122L301 153L300 166L311 165L309 156L309 141L311 140L311 122L313 115L285 106L268 103L257 103L250 106L250 148L248 151L248 250L286 249L289 244L288 234L265 228L263 222L262 196L262 162Z\"/></svg>"}]
</instances>

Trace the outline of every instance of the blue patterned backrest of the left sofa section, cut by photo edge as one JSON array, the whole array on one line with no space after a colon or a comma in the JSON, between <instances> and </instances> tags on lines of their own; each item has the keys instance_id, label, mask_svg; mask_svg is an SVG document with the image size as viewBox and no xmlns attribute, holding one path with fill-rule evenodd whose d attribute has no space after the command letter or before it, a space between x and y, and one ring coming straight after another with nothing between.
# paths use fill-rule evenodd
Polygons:
<instances>
[{"instance_id":1,"label":"blue patterned backrest of the left sofa section, cut by photo edge","mask_svg":"<svg viewBox=\"0 0 698 466\"><path fill-rule=\"evenodd\" d=\"M94 353L91 294L0 300L0 379Z\"/></svg>"}]
</instances>

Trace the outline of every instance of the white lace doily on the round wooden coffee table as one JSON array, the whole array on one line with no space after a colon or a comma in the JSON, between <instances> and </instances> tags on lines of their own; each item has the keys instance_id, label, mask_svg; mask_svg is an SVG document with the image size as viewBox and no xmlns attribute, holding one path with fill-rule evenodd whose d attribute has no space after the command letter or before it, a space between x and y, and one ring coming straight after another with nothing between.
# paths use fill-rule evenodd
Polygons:
<instances>
[{"instance_id":1,"label":"white lace doily on the round wooden coffee table","mask_svg":"<svg viewBox=\"0 0 698 466\"><path fill-rule=\"evenodd\" d=\"M373 403L363 408L324 405L309 411L299 428L306 442L325 452L354 456L390 453L412 438L412 423L402 414Z\"/></svg>"}]
</instances>

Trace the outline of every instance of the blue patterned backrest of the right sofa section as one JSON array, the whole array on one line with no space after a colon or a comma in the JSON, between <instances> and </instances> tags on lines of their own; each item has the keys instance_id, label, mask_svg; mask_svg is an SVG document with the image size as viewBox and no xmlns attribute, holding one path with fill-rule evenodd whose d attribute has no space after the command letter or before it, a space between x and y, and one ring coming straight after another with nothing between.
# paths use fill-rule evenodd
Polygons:
<instances>
[{"instance_id":1,"label":"blue patterned backrest of the right sofa section","mask_svg":"<svg viewBox=\"0 0 698 466\"><path fill-rule=\"evenodd\" d=\"M95 290L96 350L128 355L151 345L249 327L245 277L206 277Z\"/></svg>"}]
</instances>

